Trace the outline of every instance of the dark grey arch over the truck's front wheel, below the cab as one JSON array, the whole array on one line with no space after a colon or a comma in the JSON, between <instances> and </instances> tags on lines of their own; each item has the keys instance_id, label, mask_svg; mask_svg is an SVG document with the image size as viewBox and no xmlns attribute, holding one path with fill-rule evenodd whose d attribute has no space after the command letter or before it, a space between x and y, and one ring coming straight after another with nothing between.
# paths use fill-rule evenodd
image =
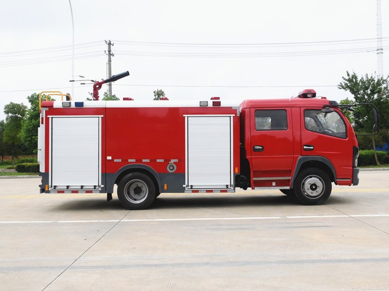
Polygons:
<instances>
[{"instance_id":1,"label":"dark grey arch over the truck's front wheel, below the cab","mask_svg":"<svg viewBox=\"0 0 389 291\"><path fill-rule=\"evenodd\" d=\"M321 169L328 175L331 182L336 181L335 167L327 158L320 157L320 156L304 156L304 157L300 157L297 160L296 168L293 173L293 178L290 183L291 188L294 187L294 182L296 180L297 175L306 168Z\"/></svg>"}]
</instances>

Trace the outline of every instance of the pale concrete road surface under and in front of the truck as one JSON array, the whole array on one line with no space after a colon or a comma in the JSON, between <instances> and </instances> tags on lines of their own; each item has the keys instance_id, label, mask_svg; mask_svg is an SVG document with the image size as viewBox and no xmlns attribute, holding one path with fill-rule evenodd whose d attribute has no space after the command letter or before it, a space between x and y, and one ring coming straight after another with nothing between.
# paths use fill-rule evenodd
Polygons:
<instances>
[{"instance_id":1,"label":"pale concrete road surface under and in front of the truck","mask_svg":"<svg viewBox=\"0 0 389 291\"><path fill-rule=\"evenodd\" d=\"M39 181L0 179L1 290L389 290L389 171L320 206L273 190L129 211Z\"/></svg>"}]
</instances>

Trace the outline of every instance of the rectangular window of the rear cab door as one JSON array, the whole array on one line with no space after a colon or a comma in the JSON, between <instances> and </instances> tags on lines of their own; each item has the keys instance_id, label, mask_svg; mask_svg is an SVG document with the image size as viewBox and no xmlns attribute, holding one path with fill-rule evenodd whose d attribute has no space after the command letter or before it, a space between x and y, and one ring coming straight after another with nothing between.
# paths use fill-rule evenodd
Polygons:
<instances>
[{"instance_id":1,"label":"rectangular window of the rear cab door","mask_svg":"<svg viewBox=\"0 0 389 291\"><path fill-rule=\"evenodd\" d=\"M256 110L256 130L287 130L288 119L286 110Z\"/></svg>"}]
</instances>

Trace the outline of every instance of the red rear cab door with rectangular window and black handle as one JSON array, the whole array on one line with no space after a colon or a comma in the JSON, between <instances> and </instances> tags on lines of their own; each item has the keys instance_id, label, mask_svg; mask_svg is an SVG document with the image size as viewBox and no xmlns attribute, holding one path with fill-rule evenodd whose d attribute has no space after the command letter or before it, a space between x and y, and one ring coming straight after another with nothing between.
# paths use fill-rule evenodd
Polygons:
<instances>
[{"instance_id":1,"label":"red rear cab door with rectangular window and black handle","mask_svg":"<svg viewBox=\"0 0 389 291\"><path fill-rule=\"evenodd\" d=\"M253 188L288 187L293 163L290 108L251 108L251 177Z\"/></svg>"}]
</instances>

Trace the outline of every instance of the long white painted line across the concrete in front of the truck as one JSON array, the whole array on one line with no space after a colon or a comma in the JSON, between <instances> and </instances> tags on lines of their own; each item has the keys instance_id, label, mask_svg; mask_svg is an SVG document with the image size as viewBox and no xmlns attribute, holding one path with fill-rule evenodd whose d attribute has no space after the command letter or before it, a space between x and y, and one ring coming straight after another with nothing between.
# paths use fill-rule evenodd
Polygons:
<instances>
[{"instance_id":1,"label":"long white painted line across the concrete in front of the truck","mask_svg":"<svg viewBox=\"0 0 389 291\"><path fill-rule=\"evenodd\" d=\"M154 219L114 219L114 220L41 220L41 221L0 221L0 224L47 224L47 223L117 223L117 222L166 222L166 221L214 221L214 220L262 220L262 219L306 219L306 218L353 218L385 217L389 214L353 215L306 215L306 216L257 216L257 217L199 217L199 218L154 218Z\"/></svg>"}]
</instances>

